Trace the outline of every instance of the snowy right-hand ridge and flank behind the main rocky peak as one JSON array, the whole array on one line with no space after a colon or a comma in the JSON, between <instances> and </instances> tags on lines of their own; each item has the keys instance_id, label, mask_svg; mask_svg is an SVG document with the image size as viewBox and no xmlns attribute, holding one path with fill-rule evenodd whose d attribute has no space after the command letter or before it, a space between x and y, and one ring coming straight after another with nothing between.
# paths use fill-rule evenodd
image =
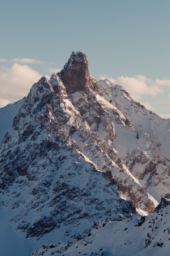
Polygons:
<instances>
[{"instance_id":1,"label":"snowy right-hand ridge and flank behind the main rocky peak","mask_svg":"<svg viewBox=\"0 0 170 256\"><path fill-rule=\"evenodd\" d=\"M108 80L98 83L105 92L105 97L108 100L113 99L111 104L128 118L138 139L134 141L130 134L121 131L124 136L121 136L121 132L117 133L115 148L134 177L149 194L159 200L170 191L170 119L161 119L145 109L121 86L111 84ZM108 83L109 88L106 86Z\"/></svg>"}]
</instances>

